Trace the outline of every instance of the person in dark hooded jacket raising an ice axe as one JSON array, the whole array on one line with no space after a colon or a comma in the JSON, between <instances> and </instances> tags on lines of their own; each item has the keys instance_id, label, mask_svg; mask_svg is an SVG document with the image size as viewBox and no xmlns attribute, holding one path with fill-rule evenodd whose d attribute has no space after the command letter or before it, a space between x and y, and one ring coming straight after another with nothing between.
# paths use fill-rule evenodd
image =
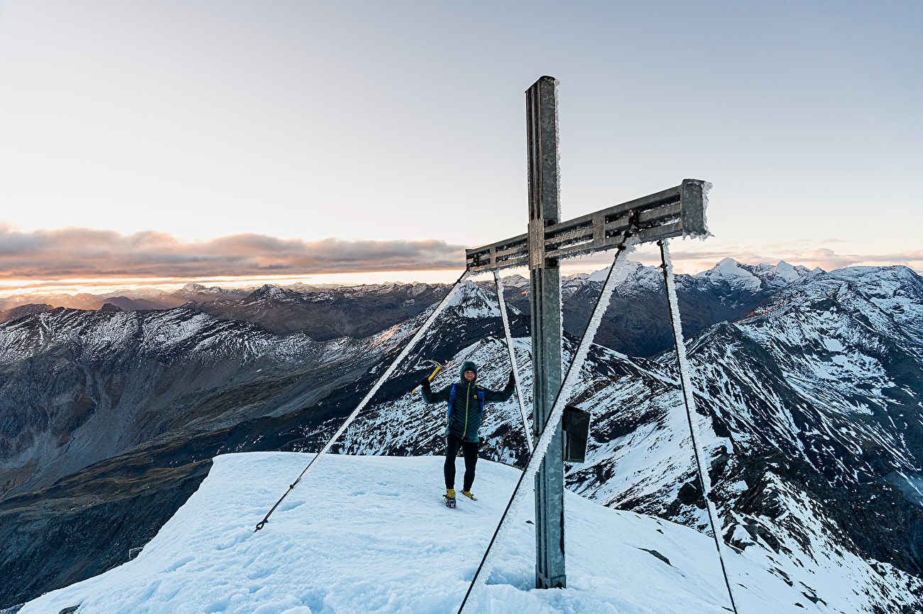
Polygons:
<instances>
[{"instance_id":1,"label":"person in dark hooded jacket raising an ice axe","mask_svg":"<svg viewBox=\"0 0 923 614\"><path fill-rule=\"evenodd\" d=\"M464 455L464 483L462 494L472 501L471 487L474 483L474 466L477 464L478 437L486 403L503 403L509 401L516 391L513 373L509 372L506 388L500 391L488 390L475 383L477 365L471 360L462 364L459 372L461 380L434 393L426 378L420 382L420 390L426 403L449 402L446 424L446 464L443 467L446 477L446 494L442 495L448 507L455 507L455 457L459 448Z\"/></svg>"}]
</instances>

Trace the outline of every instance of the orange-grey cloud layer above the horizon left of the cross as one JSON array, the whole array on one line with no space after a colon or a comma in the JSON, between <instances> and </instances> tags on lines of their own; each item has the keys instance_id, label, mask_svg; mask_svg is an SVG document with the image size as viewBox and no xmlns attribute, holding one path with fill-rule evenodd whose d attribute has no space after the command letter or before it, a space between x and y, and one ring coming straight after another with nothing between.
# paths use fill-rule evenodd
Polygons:
<instances>
[{"instance_id":1,"label":"orange-grey cloud layer above the horizon left of the cross","mask_svg":"<svg viewBox=\"0 0 923 614\"><path fill-rule=\"evenodd\" d=\"M0 279L312 275L457 269L462 245L423 241L302 241L235 234L184 241L165 232L124 235L0 226Z\"/></svg>"}]
</instances>

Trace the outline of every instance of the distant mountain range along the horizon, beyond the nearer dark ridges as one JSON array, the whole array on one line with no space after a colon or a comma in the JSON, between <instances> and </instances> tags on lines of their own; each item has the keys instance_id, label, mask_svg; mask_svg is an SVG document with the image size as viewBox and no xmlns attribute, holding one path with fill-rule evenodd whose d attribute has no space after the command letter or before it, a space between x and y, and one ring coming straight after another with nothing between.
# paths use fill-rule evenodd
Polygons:
<instances>
[{"instance_id":1,"label":"distant mountain range along the horizon, beyond the nearer dark ridges","mask_svg":"<svg viewBox=\"0 0 923 614\"><path fill-rule=\"evenodd\" d=\"M818 269L820 270L820 269ZM684 329L696 334L724 320L734 321L754 309L773 292L798 277L809 275L803 266L780 262L776 266L742 265L725 258L709 271L696 276L677 275L677 294ZM605 270L575 274L561 279L564 330L580 335L589 320ZM478 281L489 292L493 281ZM529 313L529 282L512 275L505 279L505 298L521 313ZM597 342L631 356L653 356L672 344L669 314L660 269L629 265L629 274L616 292ZM281 287L270 284L252 289L206 288L186 284L165 292L133 289L91 295L34 296L35 303L22 296L0 299L0 322L54 307L83 310L148 311L186 307L222 320L250 322L274 333L305 333L315 341L337 337L368 337L422 313L449 291L447 284L371 284L362 286L296 283ZM3 302L6 301L6 302ZM15 304L14 304L15 303Z\"/></svg>"}]
</instances>

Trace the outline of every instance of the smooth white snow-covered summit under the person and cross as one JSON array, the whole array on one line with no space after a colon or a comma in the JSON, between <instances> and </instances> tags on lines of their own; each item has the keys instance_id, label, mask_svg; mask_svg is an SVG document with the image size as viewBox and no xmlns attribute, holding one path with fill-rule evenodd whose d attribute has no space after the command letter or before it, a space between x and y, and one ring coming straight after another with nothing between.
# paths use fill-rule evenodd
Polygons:
<instances>
[{"instance_id":1,"label":"smooth white snow-covered summit under the person and cross","mask_svg":"<svg viewBox=\"0 0 923 614\"><path fill-rule=\"evenodd\" d=\"M258 533L253 526L309 455L215 458L198 492L134 561L28 603L57 612L450 612L507 502L517 469L478 465L477 502L439 502L442 458L328 455ZM685 526L568 493L568 583L536 590L532 510L473 608L480 612L725 612L714 544ZM757 549L731 554L741 612L832 612L767 572ZM796 584L797 586L797 584ZM844 586L845 588L845 586Z\"/></svg>"}]
</instances>

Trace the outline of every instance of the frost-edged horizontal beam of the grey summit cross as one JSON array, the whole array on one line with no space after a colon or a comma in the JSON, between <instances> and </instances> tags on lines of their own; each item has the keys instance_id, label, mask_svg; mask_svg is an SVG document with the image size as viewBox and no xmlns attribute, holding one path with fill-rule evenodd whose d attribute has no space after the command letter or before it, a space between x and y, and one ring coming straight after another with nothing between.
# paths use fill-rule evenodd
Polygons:
<instances>
[{"instance_id":1,"label":"frost-edged horizontal beam of the grey summit cross","mask_svg":"<svg viewBox=\"0 0 923 614\"><path fill-rule=\"evenodd\" d=\"M641 242L659 241L681 235L706 236L704 184L700 179L684 179L663 192L606 207L580 218L563 222L545 221L544 242L535 241L529 252L529 233L465 250L466 265L483 272L511 266L540 266L544 258L561 260L577 255L602 252L617 247L629 219L635 216L633 230Z\"/></svg>"}]
</instances>

